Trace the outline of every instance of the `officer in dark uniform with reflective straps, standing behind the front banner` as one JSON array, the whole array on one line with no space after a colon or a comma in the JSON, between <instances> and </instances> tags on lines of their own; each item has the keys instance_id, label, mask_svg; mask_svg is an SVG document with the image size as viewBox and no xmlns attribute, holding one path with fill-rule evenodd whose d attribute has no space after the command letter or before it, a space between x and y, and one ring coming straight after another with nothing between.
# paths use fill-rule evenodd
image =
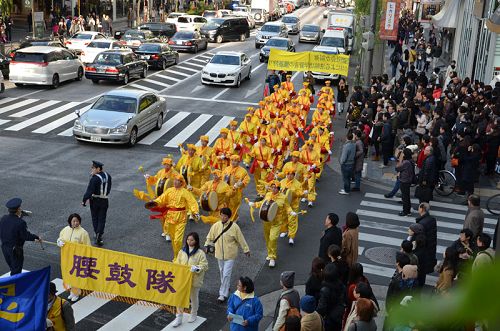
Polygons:
<instances>
[{"instance_id":1,"label":"officer in dark uniform with reflective straps, standing behind the front banner","mask_svg":"<svg viewBox=\"0 0 500 331\"><path fill-rule=\"evenodd\" d=\"M92 161L92 171L89 186L83 195L82 205L85 207L90 201L90 214L94 226L95 244L102 246L102 236L106 225L106 213L108 211L108 195L111 191L111 176L102 171L104 164Z\"/></svg>"}]
</instances>

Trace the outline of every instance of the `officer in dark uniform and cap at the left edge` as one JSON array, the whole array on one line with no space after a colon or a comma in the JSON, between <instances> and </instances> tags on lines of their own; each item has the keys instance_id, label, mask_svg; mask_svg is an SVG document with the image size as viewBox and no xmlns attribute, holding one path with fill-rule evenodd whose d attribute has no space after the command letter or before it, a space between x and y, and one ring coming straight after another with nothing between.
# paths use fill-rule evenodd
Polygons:
<instances>
[{"instance_id":1,"label":"officer in dark uniform and cap at the left edge","mask_svg":"<svg viewBox=\"0 0 500 331\"><path fill-rule=\"evenodd\" d=\"M22 200L13 198L7 201L5 207L9 214L0 219L0 240L5 262L9 265L10 275L20 274L23 270L23 246L26 240L41 242L42 239L28 231L22 216L28 215L21 209Z\"/></svg>"}]
</instances>

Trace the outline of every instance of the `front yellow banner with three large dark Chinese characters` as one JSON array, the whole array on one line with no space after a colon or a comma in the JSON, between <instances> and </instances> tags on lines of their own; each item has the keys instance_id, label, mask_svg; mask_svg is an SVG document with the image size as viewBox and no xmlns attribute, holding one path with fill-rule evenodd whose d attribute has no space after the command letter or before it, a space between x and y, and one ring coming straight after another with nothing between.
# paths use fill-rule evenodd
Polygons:
<instances>
[{"instance_id":1,"label":"front yellow banner with three large dark Chinese characters","mask_svg":"<svg viewBox=\"0 0 500 331\"><path fill-rule=\"evenodd\" d=\"M63 281L77 288L189 307L188 266L66 242L61 249Z\"/></svg>"}]
</instances>

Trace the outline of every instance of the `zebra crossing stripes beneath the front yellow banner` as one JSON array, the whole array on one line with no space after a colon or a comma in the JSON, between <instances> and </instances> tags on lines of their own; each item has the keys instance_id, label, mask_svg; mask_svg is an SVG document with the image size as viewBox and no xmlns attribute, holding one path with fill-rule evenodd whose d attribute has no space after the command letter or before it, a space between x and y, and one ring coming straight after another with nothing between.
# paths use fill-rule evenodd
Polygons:
<instances>
[{"instance_id":1,"label":"zebra crossing stripes beneath the front yellow banner","mask_svg":"<svg viewBox=\"0 0 500 331\"><path fill-rule=\"evenodd\" d=\"M23 270L27 272L27 270ZM10 273L0 276L8 277ZM63 281L55 278L52 282L56 285L57 295L66 298L68 292L64 289ZM113 301L107 294L108 299L99 296L87 295L72 303L77 330L99 330L99 331L127 331L127 330L174 330L172 326L175 315L157 306L136 302L128 304ZM105 314L103 313L105 311ZM194 323L188 323L189 314L184 314L183 323L176 327L177 331L197 330L206 318L198 315Z\"/></svg>"}]
</instances>

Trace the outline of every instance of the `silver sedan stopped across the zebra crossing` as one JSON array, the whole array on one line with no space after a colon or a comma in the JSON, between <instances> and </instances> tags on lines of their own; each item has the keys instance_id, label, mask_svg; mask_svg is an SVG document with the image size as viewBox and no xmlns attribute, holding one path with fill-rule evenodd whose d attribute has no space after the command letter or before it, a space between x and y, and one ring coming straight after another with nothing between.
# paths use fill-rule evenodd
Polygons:
<instances>
[{"instance_id":1,"label":"silver sedan stopped across the zebra crossing","mask_svg":"<svg viewBox=\"0 0 500 331\"><path fill-rule=\"evenodd\" d=\"M79 141L133 146L138 137L161 129L166 112L165 98L154 93L113 90L97 99L85 113L76 112L73 135Z\"/></svg>"}]
</instances>

